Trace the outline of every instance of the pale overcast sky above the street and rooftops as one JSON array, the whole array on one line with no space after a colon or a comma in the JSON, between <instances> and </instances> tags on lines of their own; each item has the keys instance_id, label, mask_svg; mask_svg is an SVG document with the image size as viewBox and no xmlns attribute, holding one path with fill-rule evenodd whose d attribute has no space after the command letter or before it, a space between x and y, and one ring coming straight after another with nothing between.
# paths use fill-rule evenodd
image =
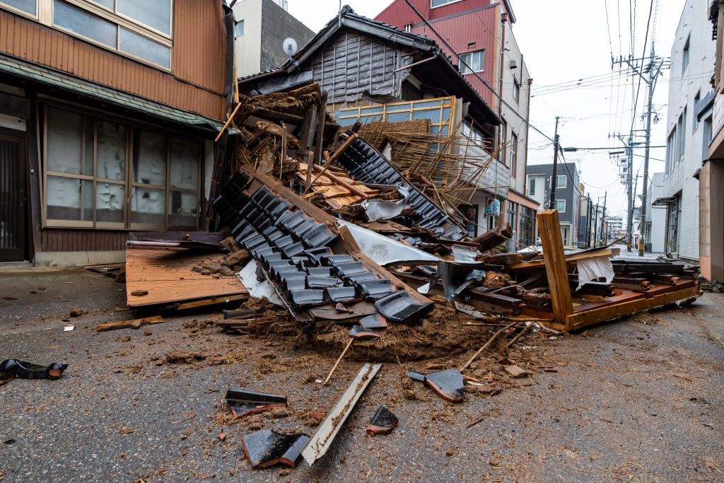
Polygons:
<instances>
[{"instance_id":1,"label":"pale overcast sky above the street and rooftops","mask_svg":"<svg viewBox=\"0 0 724 483\"><path fill-rule=\"evenodd\" d=\"M705 1L705 0L699 0ZM374 17L387 7L391 0L346 0L355 12ZM685 0L659 0L660 6L656 28L649 31L649 53L652 35L656 51L660 56L670 56L681 10ZM618 151L618 140L609 134L623 133L628 137L631 130L633 93L631 75L619 75L618 67L611 70L613 55L628 56L631 53L631 25L636 47L635 57L644 53L644 35L649 15L649 0L631 0L633 12L629 12L626 0L512 0L518 22L513 32L521 46L531 77L533 94L531 99L532 125L553 137L555 117L560 116L559 134L562 146L611 147ZM289 0L289 11L315 32L324 27L339 9L334 0ZM619 10L620 8L620 10ZM635 14L635 15L633 15ZM608 21L607 21L608 17ZM704 20L702 20L703 22ZM706 25L705 28L710 28ZM610 39L610 40L609 40ZM592 80L587 77L600 76ZM634 77L636 80L637 77ZM666 103L668 99L669 72L660 77L654 93L654 109L660 122L653 125L652 145L665 144ZM576 86L578 79L584 79L582 86ZM561 86L561 84L565 84ZM573 84L573 88L568 85ZM642 129L644 122L640 114L647 101L646 84L641 83L639 114L633 129ZM553 149L550 141L530 131L529 165L552 162ZM641 139L642 140L642 139ZM652 158L664 159L665 149L652 149ZM641 193L644 172L644 150L636 150L633 172L640 169L638 193ZM566 153L568 161L577 161L581 179L586 185L594 203L608 193L607 206L611 214L626 212L626 196L618 176L619 170L610 160L607 150L578 151ZM649 177L664 169L662 161L649 164ZM565 174L565 173L564 173ZM603 203L603 198L601 198ZM637 203L640 204L640 201Z\"/></svg>"}]
</instances>

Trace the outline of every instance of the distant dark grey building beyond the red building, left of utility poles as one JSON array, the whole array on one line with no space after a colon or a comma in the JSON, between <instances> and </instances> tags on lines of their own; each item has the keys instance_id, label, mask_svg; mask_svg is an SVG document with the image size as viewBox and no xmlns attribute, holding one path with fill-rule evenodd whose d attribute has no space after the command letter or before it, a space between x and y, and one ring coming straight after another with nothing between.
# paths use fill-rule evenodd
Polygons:
<instances>
[{"instance_id":1,"label":"distant dark grey building beyond the red building, left of utility poles","mask_svg":"<svg viewBox=\"0 0 724 483\"><path fill-rule=\"evenodd\" d=\"M540 203L541 209L550 205L553 164L534 164L528 167L528 196ZM579 217L581 215L581 193L578 185L576 163L558 163L555 180L555 209L560 217L560 234L563 245L575 248L578 245Z\"/></svg>"}]
</instances>

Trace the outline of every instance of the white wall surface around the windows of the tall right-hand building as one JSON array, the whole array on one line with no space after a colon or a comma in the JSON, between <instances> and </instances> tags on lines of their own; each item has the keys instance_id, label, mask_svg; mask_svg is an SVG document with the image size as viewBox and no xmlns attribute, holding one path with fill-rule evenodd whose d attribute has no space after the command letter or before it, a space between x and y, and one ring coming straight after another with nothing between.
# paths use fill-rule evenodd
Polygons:
<instances>
[{"instance_id":1,"label":"white wall surface around the windows of the tall right-hand building","mask_svg":"<svg viewBox=\"0 0 724 483\"><path fill-rule=\"evenodd\" d=\"M702 167L704 129L696 124L694 97L703 98L710 91L710 77L715 63L715 41L708 28L701 28L707 18L708 2L687 0L671 48L671 71L667 114L667 140L673 130L678 139L676 148L667 149L663 196L681 193L678 251L684 259L699 259L699 181L694 174ZM689 65L683 67L685 46L689 42ZM683 112L686 109L686 125ZM680 123L681 119L681 123ZM681 124L681 128L679 125ZM678 143L685 140L683 157L678 156ZM671 143L668 143L669 145Z\"/></svg>"}]
</instances>

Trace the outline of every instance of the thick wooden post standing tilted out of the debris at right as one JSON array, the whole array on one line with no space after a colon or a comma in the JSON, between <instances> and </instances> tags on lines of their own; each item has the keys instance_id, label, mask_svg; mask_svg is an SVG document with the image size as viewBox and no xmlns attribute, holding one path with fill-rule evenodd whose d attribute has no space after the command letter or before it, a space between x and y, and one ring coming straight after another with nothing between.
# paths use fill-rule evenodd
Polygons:
<instances>
[{"instance_id":1,"label":"thick wooden post standing tilted out of the debris at right","mask_svg":"<svg viewBox=\"0 0 724 483\"><path fill-rule=\"evenodd\" d=\"M547 209L539 211L537 218L553 306L553 320L566 324L566 316L573 314L573 302L571 286L568 285L568 266L563 253L563 238L560 235L560 217L557 210ZM568 324L566 328L571 329Z\"/></svg>"}]
</instances>

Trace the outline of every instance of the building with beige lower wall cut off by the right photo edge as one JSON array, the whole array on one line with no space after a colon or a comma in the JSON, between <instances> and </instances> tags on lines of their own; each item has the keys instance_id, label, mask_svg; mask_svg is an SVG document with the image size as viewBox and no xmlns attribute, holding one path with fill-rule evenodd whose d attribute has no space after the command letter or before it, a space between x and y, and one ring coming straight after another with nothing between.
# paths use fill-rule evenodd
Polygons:
<instances>
[{"instance_id":1,"label":"building with beige lower wall cut off by the right photo edge","mask_svg":"<svg viewBox=\"0 0 724 483\"><path fill-rule=\"evenodd\" d=\"M704 143L708 151L699 173L699 265L703 277L724 282L724 0L712 0L709 14L717 40L714 97L709 103L705 103L706 96L700 101L702 107L713 101L713 108L708 116L698 119L702 122L702 135L710 140ZM708 29L701 30L709 33Z\"/></svg>"}]
</instances>

